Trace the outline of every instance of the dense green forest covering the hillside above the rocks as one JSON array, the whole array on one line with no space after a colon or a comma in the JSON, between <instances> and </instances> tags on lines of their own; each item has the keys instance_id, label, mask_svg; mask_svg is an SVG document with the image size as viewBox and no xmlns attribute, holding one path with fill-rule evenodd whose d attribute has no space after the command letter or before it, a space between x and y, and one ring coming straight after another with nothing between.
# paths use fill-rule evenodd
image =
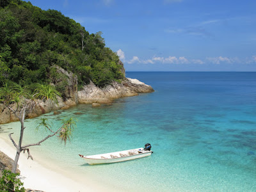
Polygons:
<instances>
[{"instance_id":1,"label":"dense green forest covering the hillside above the rocks","mask_svg":"<svg viewBox=\"0 0 256 192\"><path fill-rule=\"evenodd\" d=\"M93 81L103 87L124 78L118 56L105 47L101 32L90 34L81 24L56 10L30 2L0 1L0 86L14 82L58 84L58 65L77 75L78 86ZM65 82L65 81L64 81Z\"/></svg>"}]
</instances>

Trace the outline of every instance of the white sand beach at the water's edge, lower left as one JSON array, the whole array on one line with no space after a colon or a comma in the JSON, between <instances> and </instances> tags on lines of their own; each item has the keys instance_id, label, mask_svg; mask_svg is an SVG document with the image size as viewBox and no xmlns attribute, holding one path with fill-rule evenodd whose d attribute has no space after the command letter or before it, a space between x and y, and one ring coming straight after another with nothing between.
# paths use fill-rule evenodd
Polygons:
<instances>
[{"instance_id":1,"label":"white sand beach at the water's edge, lower left","mask_svg":"<svg viewBox=\"0 0 256 192\"><path fill-rule=\"evenodd\" d=\"M15 147L0 134L0 150L7 156L14 159ZM34 158L36 159L36 158ZM106 186L93 182L89 178L81 178L79 175L67 175L67 173L56 170L52 165L47 167L38 161L27 159L27 154L20 154L19 158L20 180L24 182L24 188L40 191L111 191Z\"/></svg>"}]
</instances>

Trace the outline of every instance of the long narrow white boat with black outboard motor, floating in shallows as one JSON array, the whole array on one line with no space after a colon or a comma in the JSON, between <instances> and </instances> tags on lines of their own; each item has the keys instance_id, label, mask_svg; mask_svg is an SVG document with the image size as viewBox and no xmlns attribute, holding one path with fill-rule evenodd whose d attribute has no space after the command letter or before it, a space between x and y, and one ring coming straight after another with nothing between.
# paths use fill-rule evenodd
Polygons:
<instances>
[{"instance_id":1,"label":"long narrow white boat with black outboard motor, floating in shallows","mask_svg":"<svg viewBox=\"0 0 256 192\"><path fill-rule=\"evenodd\" d=\"M82 157L88 164L116 163L150 156L153 153L150 148L134 148L130 150L122 150L107 154L97 154L93 156L83 156L79 154L79 156Z\"/></svg>"}]
</instances>

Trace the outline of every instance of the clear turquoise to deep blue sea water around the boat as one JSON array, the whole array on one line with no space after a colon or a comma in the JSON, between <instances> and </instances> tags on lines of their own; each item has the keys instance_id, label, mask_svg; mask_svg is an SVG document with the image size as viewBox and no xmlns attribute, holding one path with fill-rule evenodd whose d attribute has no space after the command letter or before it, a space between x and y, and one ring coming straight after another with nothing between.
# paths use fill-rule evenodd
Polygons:
<instances>
[{"instance_id":1,"label":"clear turquoise to deep blue sea water around the boat","mask_svg":"<svg viewBox=\"0 0 256 192\"><path fill-rule=\"evenodd\" d=\"M256 72L126 76L156 92L100 108L80 104L60 115L46 114L56 126L65 116L77 118L72 143L63 147L50 139L31 152L70 172L93 174L114 191L256 191ZM38 140L36 119L26 120L25 140ZM77 155L146 143L152 145L152 156L123 163L89 166Z\"/></svg>"}]
</instances>

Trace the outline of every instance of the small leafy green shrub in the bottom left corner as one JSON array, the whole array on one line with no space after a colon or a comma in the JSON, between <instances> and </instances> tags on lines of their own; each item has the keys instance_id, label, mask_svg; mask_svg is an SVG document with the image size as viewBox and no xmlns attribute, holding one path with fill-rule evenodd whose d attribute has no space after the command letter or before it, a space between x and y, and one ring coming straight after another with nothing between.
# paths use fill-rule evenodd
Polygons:
<instances>
[{"instance_id":1,"label":"small leafy green shrub in the bottom left corner","mask_svg":"<svg viewBox=\"0 0 256 192\"><path fill-rule=\"evenodd\" d=\"M23 183L20 179L17 179L19 173L12 173L8 170L3 170L3 176L0 177L0 191L9 192L9 191L20 191L24 192Z\"/></svg>"}]
</instances>

